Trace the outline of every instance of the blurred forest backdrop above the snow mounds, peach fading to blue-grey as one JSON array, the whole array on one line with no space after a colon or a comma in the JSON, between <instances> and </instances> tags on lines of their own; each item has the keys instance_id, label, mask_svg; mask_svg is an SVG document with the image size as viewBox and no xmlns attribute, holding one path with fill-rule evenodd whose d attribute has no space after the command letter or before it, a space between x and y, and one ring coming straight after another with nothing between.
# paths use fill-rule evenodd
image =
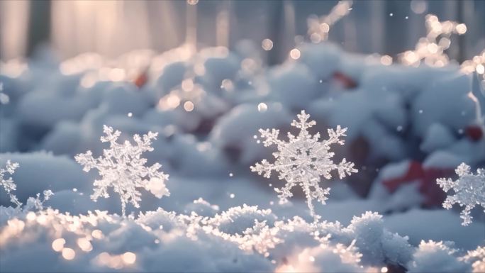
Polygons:
<instances>
[{"instance_id":1,"label":"blurred forest backdrop above the snow mounds, peach fading to blue-grey","mask_svg":"<svg viewBox=\"0 0 485 273\"><path fill-rule=\"evenodd\" d=\"M267 61L280 62L305 38L309 16L322 16L338 1L0 1L1 60L31 55L51 45L62 59L82 52L116 57L135 49L163 52L193 31L199 47L233 48L249 39L274 42ZM425 35L425 15L467 25L448 55L462 62L485 48L485 1L362 0L335 24L329 39L349 52L394 56ZM196 29L194 29L196 28ZM300 37L300 36L301 37ZM296 37L296 39L295 39ZM295 41L296 40L296 41Z\"/></svg>"}]
</instances>

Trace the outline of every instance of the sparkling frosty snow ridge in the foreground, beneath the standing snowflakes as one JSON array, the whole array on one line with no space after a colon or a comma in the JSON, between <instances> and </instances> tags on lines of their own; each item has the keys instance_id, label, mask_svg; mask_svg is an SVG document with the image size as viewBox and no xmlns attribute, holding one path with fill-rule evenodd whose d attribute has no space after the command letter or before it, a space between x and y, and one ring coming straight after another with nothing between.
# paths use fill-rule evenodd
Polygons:
<instances>
[{"instance_id":1,"label":"sparkling frosty snow ridge in the foreground, beneath the standing snowflakes","mask_svg":"<svg viewBox=\"0 0 485 273\"><path fill-rule=\"evenodd\" d=\"M480 272L484 267L483 247L461 255L450 243L430 241L415 250L407 237L386 230L381 218L367 212L343 226L307 223L298 216L277 221L270 210L255 206L215 216L159 208L137 218L1 207L0 262L2 272L378 272L389 266ZM21 262L26 259L33 262Z\"/></svg>"}]
</instances>

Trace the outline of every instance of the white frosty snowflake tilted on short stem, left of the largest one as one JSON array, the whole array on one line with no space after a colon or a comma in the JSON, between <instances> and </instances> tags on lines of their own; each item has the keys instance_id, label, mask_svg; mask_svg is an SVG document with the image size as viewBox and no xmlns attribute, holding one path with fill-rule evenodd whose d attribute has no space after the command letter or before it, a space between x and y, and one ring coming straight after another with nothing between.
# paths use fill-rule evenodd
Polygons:
<instances>
[{"instance_id":1,"label":"white frosty snowflake tilted on short stem, left of the largest one","mask_svg":"<svg viewBox=\"0 0 485 273\"><path fill-rule=\"evenodd\" d=\"M75 156L76 161L84 166L84 172L90 169L98 169L102 179L94 181L94 194L91 199L96 201L99 196L108 198L108 187L113 187L113 191L118 193L121 198L121 211L125 216L126 203L130 202L139 208L141 201L140 191L137 188L145 188L152 192L157 198L169 196L169 191L165 187L168 174L160 172L158 169L162 165L155 163L146 167L147 160L140 157L142 152L152 151L152 139L156 139L158 133L148 132L147 135L133 135L133 140L137 145L131 145L126 140L125 143L116 143L121 132L113 128L104 126L106 136L101 137L101 142L108 142L110 148L103 151L104 157L94 158L91 151Z\"/></svg>"}]
</instances>

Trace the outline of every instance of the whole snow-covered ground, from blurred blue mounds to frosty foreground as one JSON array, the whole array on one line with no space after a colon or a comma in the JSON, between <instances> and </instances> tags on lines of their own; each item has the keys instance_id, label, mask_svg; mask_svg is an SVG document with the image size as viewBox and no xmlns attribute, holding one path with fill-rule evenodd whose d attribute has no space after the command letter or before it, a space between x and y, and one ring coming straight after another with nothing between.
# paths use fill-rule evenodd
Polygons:
<instances>
[{"instance_id":1,"label":"whole snow-covered ground, from blurred blue mounds to frosty foreground","mask_svg":"<svg viewBox=\"0 0 485 273\"><path fill-rule=\"evenodd\" d=\"M274 67L245 52L2 64L0 168L18 167L4 173L15 189L0 190L0 272L485 271L481 79L453 64L382 65L330 43L303 44ZM345 145L292 159L320 147L290 126L302 110L320 143L347 128ZM118 140L108 130L99 141L104 125ZM263 138L260 128L270 129ZM277 147L264 147L272 128ZM133 139L149 131L156 139ZM280 145L288 132L301 141ZM278 173L251 172L264 159ZM463 208L442 208L436 182L462 179L463 162L476 174L460 195L477 205L466 226ZM275 187L315 177L329 194L295 183L281 204ZM54 195L43 201L45 190Z\"/></svg>"}]
</instances>

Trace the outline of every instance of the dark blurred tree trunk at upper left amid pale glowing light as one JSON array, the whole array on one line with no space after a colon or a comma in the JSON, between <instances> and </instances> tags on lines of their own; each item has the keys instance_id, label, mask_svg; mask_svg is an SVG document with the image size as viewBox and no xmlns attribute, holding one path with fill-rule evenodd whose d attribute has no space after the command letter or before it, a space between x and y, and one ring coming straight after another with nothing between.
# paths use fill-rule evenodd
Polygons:
<instances>
[{"instance_id":1,"label":"dark blurred tree trunk at upper left amid pale glowing light","mask_svg":"<svg viewBox=\"0 0 485 273\"><path fill-rule=\"evenodd\" d=\"M31 56L38 45L50 40L50 0L31 0L29 17L27 55Z\"/></svg>"}]
</instances>

